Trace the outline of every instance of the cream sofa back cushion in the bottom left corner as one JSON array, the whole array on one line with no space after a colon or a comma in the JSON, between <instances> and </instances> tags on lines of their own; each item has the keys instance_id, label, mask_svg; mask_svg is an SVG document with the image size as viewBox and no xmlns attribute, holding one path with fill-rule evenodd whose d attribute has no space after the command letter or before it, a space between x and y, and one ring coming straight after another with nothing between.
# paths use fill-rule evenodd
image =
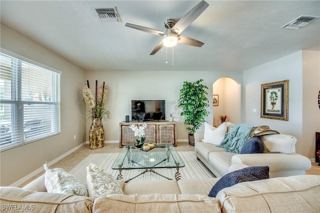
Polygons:
<instances>
[{"instance_id":1,"label":"cream sofa back cushion in the bottom left corner","mask_svg":"<svg viewBox=\"0 0 320 213\"><path fill-rule=\"evenodd\" d=\"M93 200L76 195L0 187L0 203L3 212L91 213ZM9 210L9 208L11 209Z\"/></svg>"}]
</instances>

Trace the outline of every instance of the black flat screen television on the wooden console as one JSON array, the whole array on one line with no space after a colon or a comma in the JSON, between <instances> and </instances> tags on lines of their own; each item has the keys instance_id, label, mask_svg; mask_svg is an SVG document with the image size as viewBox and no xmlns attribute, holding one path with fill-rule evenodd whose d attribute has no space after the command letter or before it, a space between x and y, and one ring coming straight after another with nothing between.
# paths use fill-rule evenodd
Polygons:
<instances>
[{"instance_id":1,"label":"black flat screen television on the wooden console","mask_svg":"<svg viewBox=\"0 0 320 213\"><path fill-rule=\"evenodd\" d=\"M131 100L131 120L165 120L165 100Z\"/></svg>"}]
</instances>

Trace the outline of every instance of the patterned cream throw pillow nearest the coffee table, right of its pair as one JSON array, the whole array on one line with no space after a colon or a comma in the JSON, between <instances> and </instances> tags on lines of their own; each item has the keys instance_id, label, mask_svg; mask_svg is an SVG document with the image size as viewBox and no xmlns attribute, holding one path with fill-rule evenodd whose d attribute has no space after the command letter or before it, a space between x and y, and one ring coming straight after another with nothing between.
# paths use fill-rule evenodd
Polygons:
<instances>
[{"instance_id":1,"label":"patterned cream throw pillow nearest the coffee table, right of its pair","mask_svg":"<svg viewBox=\"0 0 320 213\"><path fill-rule=\"evenodd\" d=\"M86 167L86 183L89 197L98 198L111 194L123 195L116 179L94 164Z\"/></svg>"}]
</instances>

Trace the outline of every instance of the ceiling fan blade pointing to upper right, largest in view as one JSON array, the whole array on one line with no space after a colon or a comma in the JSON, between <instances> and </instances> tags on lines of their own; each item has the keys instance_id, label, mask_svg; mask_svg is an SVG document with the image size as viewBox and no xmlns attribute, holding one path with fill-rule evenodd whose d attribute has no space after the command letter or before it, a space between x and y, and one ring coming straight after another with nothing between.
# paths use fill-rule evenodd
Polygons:
<instances>
[{"instance_id":1,"label":"ceiling fan blade pointing to upper right, largest in view","mask_svg":"<svg viewBox=\"0 0 320 213\"><path fill-rule=\"evenodd\" d=\"M188 25L190 25L205 9L208 3L201 0L190 11L188 11L174 26L173 31L180 34Z\"/></svg>"}]
</instances>

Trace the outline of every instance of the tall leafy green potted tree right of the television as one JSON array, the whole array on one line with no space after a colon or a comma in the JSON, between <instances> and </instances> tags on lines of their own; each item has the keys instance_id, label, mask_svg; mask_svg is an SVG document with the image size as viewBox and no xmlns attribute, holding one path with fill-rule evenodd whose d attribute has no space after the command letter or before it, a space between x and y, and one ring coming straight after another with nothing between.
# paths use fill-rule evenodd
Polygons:
<instances>
[{"instance_id":1,"label":"tall leafy green potted tree right of the television","mask_svg":"<svg viewBox=\"0 0 320 213\"><path fill-rule=\"evenodd\" d=\"M202 81L203 79L193 83L184 81L178 100L178 106L182 107L180 115L185 117L184 125L187 125L186 130L191 146L194 146L193 134L195 130L202 125L204 117L209 114L206 109L209 106L209 100L206 97L208 87L200 84Z\"/></svg>"}]
</instances>

